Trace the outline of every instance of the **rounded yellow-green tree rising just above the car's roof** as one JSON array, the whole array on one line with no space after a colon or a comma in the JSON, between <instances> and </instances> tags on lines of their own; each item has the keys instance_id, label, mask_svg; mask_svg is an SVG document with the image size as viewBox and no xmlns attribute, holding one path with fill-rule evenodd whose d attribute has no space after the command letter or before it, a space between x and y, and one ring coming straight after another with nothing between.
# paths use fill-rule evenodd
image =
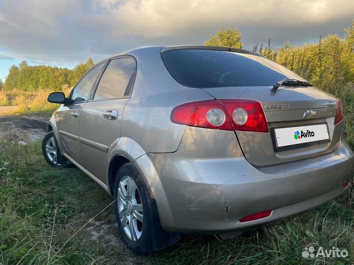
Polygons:
<instances>
[{"instance_id":1,"label":"rounded yellow-green tree rising just above the car's roof","mask_svg":"<svg viewBox=\"0 0 354 265\"><path fill-rule=\"evenodd\" d=\"M206 46L220 46L242 49L241 32L238 28L223 27L215 35L210 35L204 43Z\"/></svg>"}]
</instances>

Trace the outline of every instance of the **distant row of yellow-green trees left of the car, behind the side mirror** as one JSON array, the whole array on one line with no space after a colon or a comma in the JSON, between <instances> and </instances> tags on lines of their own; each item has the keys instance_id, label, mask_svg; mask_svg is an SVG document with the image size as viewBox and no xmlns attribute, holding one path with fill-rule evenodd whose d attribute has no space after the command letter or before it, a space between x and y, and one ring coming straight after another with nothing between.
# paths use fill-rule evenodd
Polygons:
<instances>
[{"instance_id":1,"label":"distant row of yellow-green trees left of the car, behind the side mirror","mask_svg":"<svg viewBox=\"0 0 354 265\"><path fill-rule=\"evenodd\" d=\"M0 89L2 86L4 90L60 90L63 86L74 86L93 65L91 58L86 63L76 65L72 70L48 65L29 66L24 60L18 66L10 67L5 81L2 83L0 80Z\"/></svg>"}]
</instances>

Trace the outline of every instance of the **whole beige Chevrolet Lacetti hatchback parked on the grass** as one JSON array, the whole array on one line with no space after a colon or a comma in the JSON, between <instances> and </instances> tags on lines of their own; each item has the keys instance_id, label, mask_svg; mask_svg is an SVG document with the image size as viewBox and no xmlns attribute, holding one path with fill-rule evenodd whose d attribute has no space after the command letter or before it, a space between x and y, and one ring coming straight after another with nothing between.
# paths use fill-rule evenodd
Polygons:
<instances>
[{"instance_id":1,"label":"whole beige Chevrolet Lacetti hatchback parked on the grass","mask_svg":"<svg viewBox=\"0 0 354 265\"><path fill-rule=\"evenodd\" d=\"M138 254L307 211L348 189L354 171L340 100L258 53L135 49L48 100L62 105L45 159L76 165L114 196Z\"/></svg>"}]
</instances>

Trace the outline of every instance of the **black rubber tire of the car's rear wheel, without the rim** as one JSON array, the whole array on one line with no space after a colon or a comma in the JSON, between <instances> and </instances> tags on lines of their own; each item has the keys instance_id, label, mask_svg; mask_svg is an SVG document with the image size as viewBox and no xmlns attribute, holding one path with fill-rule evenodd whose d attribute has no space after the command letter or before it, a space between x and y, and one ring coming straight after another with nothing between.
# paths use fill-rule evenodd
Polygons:
<instances>
[{"instance_id":1,"label":"black rubber tire of the car's rear wheel, without the rim","mask_svg":"<svg viewBox=\"0 0 354 265\"><path fill-rule=\"evenodd\" d=\"M150 221L149 216L151 216L151 212L153 210L153 203L154 200L151 198L150 193L148 191L148 187L145 185L143 178L141 177L138 170L132 165L131 163L126 163L120 167L118 170L116 181L114 185L114 198L115 200L120 200L118 197L118 186L119 182L122 177L128 176L130 177L136 184L140 197L141 202L143 205L143 212L144 212L144 223L142 234L137 241L132 241L130 238L127 237L125 231L123 230L123 226L119 219L119 211L118 211L118 203L115 202L115 213L117 224L119 227L120 235L123 241L128 245L128 247L137 255L147 254L153 251L152 241L150 237L151 232L151 225L153 225Z\"/></svg>"}]
</instances>

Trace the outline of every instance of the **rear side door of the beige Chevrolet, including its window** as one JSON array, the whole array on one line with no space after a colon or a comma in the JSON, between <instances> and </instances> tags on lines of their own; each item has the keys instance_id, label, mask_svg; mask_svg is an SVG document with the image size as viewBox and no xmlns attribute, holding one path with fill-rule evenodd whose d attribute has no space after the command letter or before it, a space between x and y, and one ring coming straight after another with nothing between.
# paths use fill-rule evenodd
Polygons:
<instances>
[{"instance_id":1,"label":"rear side door of the beige Chevrolet, including its window","mask_svg":"<svg viewBox=\"0 0 354 265\"><path fill-rule=\"evenodd\" d=\"M110 147L120 137L123 109L130 98L136 73L133 57L115 57L108 62L81 110L80 146L85 169L105 183L106 160Z\"/></svg>"}]
</instances>

